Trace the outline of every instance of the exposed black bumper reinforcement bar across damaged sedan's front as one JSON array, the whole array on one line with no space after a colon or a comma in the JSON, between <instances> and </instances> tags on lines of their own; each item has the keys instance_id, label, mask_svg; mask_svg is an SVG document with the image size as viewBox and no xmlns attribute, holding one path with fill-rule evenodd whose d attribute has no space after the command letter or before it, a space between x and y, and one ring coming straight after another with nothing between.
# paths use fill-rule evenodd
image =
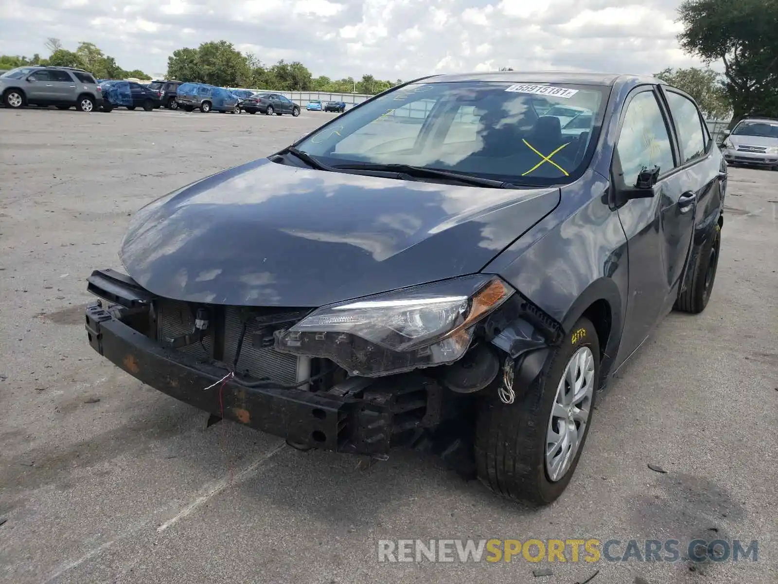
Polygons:
<instances>
[{"instance_id":1,"label":"exposed black bumper reinforcement bar across damaged sedan's front","mask_svg":"<svg viewBox=\"0 0 778 584\"><path fill-rule=\"evenodd\" d=\"M87 338L97 353L169 396L300 448L382 456L401 437L440 421L440 386L422 375L349 378L326 392L236 380L214 385L226 369L161 347L123 322L130 312L86 309Z\"/></svg>"}]
</instances>

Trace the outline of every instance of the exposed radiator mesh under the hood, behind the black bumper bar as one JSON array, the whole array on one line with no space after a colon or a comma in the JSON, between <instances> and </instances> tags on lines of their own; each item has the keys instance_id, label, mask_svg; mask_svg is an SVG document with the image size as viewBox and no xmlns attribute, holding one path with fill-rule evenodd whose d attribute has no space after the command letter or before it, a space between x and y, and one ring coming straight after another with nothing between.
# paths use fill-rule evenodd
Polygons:
<instances>
[{"instance_id":1,"label":"exposed radiator mesh under the hood, behind the black bumper bar","mask_svg":"<svg viewBox=\"0 0 778 584\"><path fill-rule=\"evenodd\" d=\"M163 299L157 304L159 336L170 338L182 336L195 327L195 316L189 304L180 301ZM243 328L240 308L227 306L224 322L223 361L232 366L238 347L238 339ZM249 322L246 329L243 347L240 348L236 371L241 375L251 375L253 378L268 378L273 382L293 384L297 381L297 357L279 353L275 349L261 349L252 344L252 332L258 326ZM212 357L212 335L205 336L200 343L181 347L179 350L195 357ZM307 377L307 375L306 375Z\"/></svg>"}]
</instances>

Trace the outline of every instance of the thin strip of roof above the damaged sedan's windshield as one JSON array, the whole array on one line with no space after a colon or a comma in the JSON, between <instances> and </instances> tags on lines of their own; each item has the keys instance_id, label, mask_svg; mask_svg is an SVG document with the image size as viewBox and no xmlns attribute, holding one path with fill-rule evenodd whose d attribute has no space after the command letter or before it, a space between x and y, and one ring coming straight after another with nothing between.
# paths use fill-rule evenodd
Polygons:
<instances>
[{"instance_id":1,"label":"thin strip of roof above the damaged sedan's windshield","mask_svg":"<svg viewBox=\"0 0 778 584\"><path fill-rule=\"evenodd\" d=\"M423 77L425 83L452 83L464 81L507 83L574 83L580 85L612 86L616 83L664 83L652 76L622 75L618 73L568 72L568 71L493 71L455 73ZM667 83L664 83L667 85Z\"/></svg>"}]
</instances>

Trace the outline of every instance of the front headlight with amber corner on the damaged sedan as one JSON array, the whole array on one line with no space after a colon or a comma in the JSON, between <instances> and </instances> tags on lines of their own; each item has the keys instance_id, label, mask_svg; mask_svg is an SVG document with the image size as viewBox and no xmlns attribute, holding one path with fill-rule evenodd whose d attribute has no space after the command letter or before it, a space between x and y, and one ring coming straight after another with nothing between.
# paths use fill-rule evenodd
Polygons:
<instances>
[{"instance_id":1,"label":"front headlight with amber corner on the damaged sedan","mask_svg":"<svg viewBox=\"0 0 778 584\"><path fill-rule=\"evenodd\" d=\"M279 334L275 348L366 377L453 363L475 324L511 294L498 277L478 275L330 304Z\"/></svg>"}]
</instances>

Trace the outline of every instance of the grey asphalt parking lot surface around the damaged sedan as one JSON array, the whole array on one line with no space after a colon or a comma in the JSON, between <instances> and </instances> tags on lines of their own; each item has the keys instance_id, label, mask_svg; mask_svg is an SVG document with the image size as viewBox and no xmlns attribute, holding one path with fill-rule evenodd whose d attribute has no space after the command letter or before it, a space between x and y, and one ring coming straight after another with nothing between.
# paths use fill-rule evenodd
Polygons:
<instances>
[{"instance_id":1,"label":"grey asphalt parking lot surface around the damaged sedan","mask_svg":"<svg viewBox=\"0 0 778 584\"><path fill-rule=\"evenodd\" d=\"M206 428L89 348L86 277L121 269L136 209L330 116L0 110L0 581L778 581L778 173L731 169L708 308L620 372L541 510L415 452L362 470ZM759 540L758 561L377 562L382 539L697 537Z\"/></svg>"}]
</instances>

